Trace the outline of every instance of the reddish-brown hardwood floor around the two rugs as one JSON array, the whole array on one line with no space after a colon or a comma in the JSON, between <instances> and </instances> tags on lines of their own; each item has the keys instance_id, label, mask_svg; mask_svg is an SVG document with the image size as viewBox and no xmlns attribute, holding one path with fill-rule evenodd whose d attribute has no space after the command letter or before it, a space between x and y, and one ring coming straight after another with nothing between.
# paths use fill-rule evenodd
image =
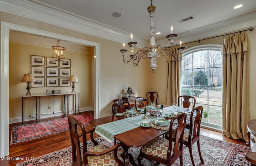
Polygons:
<instances>
[{"instance_id":1,"label":"reddish-brown hardwood floor around the two rugs","mask_svg":"<svg viewBox=\"0 0 256 166\"><path fill-rule=\"evenodd\" d=\"M93 112L85 112L85 113L92 113ZM63 116L60 116L58 118L62 118ZM51 120L53 118L47 118L43 119L44 121L46 120ZM56 119L56 117L54 117ZM31 123L31 122L30 122ZM21 123L16 123L16 124L10 124L9 125L9 131L11 135L11 129L13 126L18 126L21 125ZM92 125L86 125L86 128L93 128ZM234 144L240 144L243 146L246 146L246 142L244 140L233 140L231 138L227 138L226 136L222 135L220 132L215 132L212 130L204 129L201 128L200 134L204 136L208 136L211 138L215 138L218 140L224 140L227 142L232 142ZM94 135L95 138L98 137L97 134ZM90 138L90 137L89 137ZM11 160L12 157L38 157L42 156L44 154L48 154L50 152L54 152L56 150L61 150L63 148L71 146L70 142L70 135L69 131L64 131L61 133L57 134L52 134L50 136L45 136L42 138L37 138L34 140L26 141L26 142L21 142L18 144L12 144L10 145L10 160L0 160L0 166L16 166L16 163L22 162L22 161L16 161L16 160ZM6 158L7 159L7 158Z\"/></svg>"}]
</instances>

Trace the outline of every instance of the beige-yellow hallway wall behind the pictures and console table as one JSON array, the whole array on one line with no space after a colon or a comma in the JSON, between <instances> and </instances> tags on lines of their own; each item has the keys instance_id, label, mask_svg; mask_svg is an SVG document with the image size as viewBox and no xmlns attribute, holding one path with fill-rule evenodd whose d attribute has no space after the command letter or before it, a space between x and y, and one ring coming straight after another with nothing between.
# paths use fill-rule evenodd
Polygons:
<instances>
[{"instance_id":1,"label":"beige-yellow hallway wall behind the pictures and console table","mask_svg":"<svg viewBox=\"0 0 256 166\"><path fill-rule=\"evenodd\" d=\"M90 49L90 48L89 48ZM21 96L26 96L26 82L20 82L24 74L31 73L31 56L50 57L52 53L51 48L44 48L38 46L30 46L26 44L18 44L10 42L9 49L9 118L17 118L22 116L22 100ZM66 51L66 58L71 60L71 74L78 78L75 90L80 93L80 109L92 106L92 71L93 71L93 52L91 54L82 54L78 52ZM45 63L46 65L46 63ZM30 89L31 94L46 94L47 90L60 90L62 93L71 92L72 87L46 87L46 67L45 68L45 87L33 87ZM56 67L60 68L61 67ZM60 74L59 74L60 76ZM57 78L57 77L55 77ZM60 77L58 77L60 78ZM73 108L72 96L70 96L70 109ZM35 115L36 108L35 98L24 99L24 117ZM49 114L53 112L60 112L63 108L63 96L49 96L42 97L41 114ZM78 104L78 103L77 103ZM51 110L47 110L48 106ZM44 116L42 116L43 118ZM28 120L31 120L28 118Z\"/></svg>"}]
</instances>

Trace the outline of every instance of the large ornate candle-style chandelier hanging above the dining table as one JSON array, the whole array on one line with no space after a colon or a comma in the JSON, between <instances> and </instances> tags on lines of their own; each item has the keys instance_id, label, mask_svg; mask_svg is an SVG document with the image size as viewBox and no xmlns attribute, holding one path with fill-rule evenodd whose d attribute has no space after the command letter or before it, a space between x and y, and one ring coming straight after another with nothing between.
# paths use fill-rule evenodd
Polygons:
<instances>
[{"instance_id":1,"label":"large ornate candle-style chandelier hanging above the dining table","mask_svg":"<svg viewBox=\"0 0 256 166\"><path fill-rule=\"evenodd\" d=\"M124 48L120 50L120 52L123 54L123 62L128 63L131 60L133 61L134 66L138 66L138 63L140 62L140 59L143 58L149 58L150 59L150 68L152 69L152 72L156 72L156 59L162 54L162 56L172 56L176 61L182 61L182 51L185 49L185 47L182 47L182 42L180 41L180 48L178 48L178 51L180 54L177 56L174 56L173 52L173 46L174 39L176 39L177 34L169 34L166 36L168 40L171 43L171 47L162 47L160 45L156 46L156 40L155 40L155 28L154 28L154 22L153 22L153 15L156 10L156 6L152 6L152 0L151 0L151 6L148 7L148 12L150 13L150 47L144 47L142 50L139 50L135 54L133 54L134 47L136 47L137 42L133 41L132 33L130 35L132 42L129 42L128 45L132 48L132 55L130 55L130 60L124 59L124 55L126 54L127 50ZM171 27L171 32L173 31L173 26ZM123 44L123 47L125 44Z\"/></svg>"}]
</instances>

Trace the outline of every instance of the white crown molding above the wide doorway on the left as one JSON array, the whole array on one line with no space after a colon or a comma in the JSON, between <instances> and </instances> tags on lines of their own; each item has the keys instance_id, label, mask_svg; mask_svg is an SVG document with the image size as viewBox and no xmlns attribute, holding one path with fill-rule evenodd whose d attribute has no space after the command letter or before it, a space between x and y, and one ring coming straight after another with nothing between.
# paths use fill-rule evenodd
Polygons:
<instances>
[{"instance_id":1,"label":"white crown molding above the wide doorway on the left","mask_svg":"<svg viewBox=\"0 0 256 166\"><path fill-rule=\"evenodd\" d=\"M130 42L130 33L128 32L25 0L0 0L0 11L120 42L120 47L123 42ZM134 40L138 42L138 47L148 44L148 40L138 36L134 36Z\"/></svg>"}]
</instances>

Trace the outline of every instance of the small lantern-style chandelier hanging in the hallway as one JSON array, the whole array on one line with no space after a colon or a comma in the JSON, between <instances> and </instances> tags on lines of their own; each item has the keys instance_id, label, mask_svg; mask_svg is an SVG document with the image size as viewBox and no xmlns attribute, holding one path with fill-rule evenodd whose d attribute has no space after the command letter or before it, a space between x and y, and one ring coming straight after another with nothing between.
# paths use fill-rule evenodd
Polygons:
<instances>
[{"instance_id":1,"label":"small lantern-style chandelier hanging in the hallway","mask_svg":"<svg viewBox=\"0 0 256 166\"><path fill-rule=\"evenodd\" d=\"M60 46L62 44L60 40L56 43L56 46L52 46L52 58L56 61L63 61L65 59L66 54L66 48L63 46Z\"/></svg>"}]
</instances>

